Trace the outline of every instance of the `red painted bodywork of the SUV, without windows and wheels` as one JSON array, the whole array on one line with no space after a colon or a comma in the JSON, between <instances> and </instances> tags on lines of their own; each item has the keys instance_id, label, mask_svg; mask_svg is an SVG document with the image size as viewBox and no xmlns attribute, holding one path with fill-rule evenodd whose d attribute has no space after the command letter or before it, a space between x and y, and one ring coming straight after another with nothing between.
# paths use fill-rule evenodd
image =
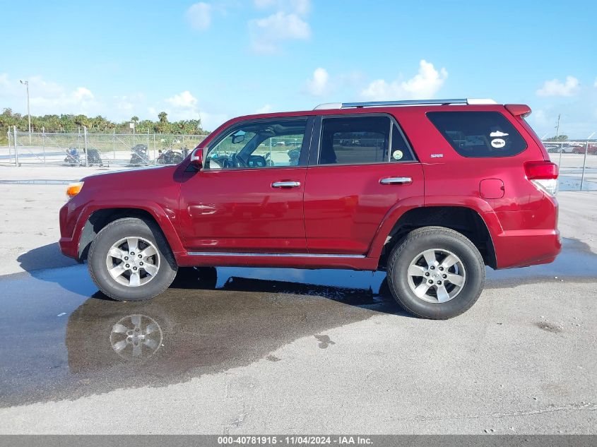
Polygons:
<instances>
[{"instance_id":1,"label":"red painted bodywork of the SUV, without windows and wheels","mask_svg":"<svg viewBox=\"0 0 597 447\"><path fill-rule=\"evenodd\" d=\"M426 117L427 112L446 110L500 112L527 148L512 157L463 157ZM92 176L60 210L61 250L78 256L83 227L95 210L138 208L158 222L180 266L375 270L386 238L404 213L422 206L458 206L474 210L485 222L497 268L550 262L560 252L557 201L526 179L524 169L525 162L549 160L548 153L526 121L503 105L319 109L238 117L198 147L209 147L230 126L249 119L359 113L394 116L418 161L317 166L310 160L302 167L187 172L189 155L178 166ZM379 184L384 177L413 181ZM272 189L273 181L299 181L300 187Z\"/></svg>"}]
</instances>

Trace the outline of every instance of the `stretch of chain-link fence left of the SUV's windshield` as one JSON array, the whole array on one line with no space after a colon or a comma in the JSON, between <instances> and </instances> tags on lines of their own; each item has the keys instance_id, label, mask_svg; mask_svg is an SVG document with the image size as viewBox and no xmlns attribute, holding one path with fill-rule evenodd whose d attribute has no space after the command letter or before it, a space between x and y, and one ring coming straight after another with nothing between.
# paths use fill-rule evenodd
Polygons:
<instances>
[{"instance_id":1,"label":"stretch of chain-link fence left of the SUV's windshield","mask_svg":"<svg viewBox=\"0 0 597 447\"><path fill-rule=\"evenodd\" d=\"M205 135L8 131L0 163L10 165L148 166L179 163Z\"/></svg>"}]
</instances>

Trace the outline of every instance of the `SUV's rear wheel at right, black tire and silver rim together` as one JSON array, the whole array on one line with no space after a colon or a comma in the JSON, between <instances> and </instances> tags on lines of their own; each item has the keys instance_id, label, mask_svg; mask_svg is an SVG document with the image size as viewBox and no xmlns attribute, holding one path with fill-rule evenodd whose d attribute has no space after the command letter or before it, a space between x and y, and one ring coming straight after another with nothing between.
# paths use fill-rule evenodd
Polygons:
<instances>
[{"instance_id":1,"label":"SUV's rear wheel at right, black tire and silver rim together","mask_svg":"<svg viewBox=\"0 0 597 447\"><path fill-rule=\"evenodd\" d=\"M388 284L398 304L416 316L446 319L477 301L485 263L463 234L444 227L413 230L394 247Z\"/></svg>"}]
</instances>

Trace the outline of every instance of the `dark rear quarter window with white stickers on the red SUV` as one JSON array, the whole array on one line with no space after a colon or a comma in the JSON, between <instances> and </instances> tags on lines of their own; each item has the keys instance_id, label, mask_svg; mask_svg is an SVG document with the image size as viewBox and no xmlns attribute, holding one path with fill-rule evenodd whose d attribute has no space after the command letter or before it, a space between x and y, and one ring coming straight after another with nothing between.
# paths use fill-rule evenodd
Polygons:
<instances>
[{"instance_id":1,"label":"dark rear quarter window with white stickers on the red SUV","mask_svg":"<svg viewBox=\"0 0 597 447\"><path fill-rule=\"evenodd\" d=\"M463 157L512 157L526 149L500 112L427 112L427 118Z\"/></svg>"}]
</instances>

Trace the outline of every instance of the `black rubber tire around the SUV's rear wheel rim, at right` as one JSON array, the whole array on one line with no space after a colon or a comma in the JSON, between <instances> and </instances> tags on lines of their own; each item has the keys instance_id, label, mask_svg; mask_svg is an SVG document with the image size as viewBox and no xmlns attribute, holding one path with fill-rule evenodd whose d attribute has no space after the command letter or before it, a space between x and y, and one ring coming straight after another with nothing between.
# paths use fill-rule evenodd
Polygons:
<instances>
[{"instance_id":1,"label":"black rubber tire around the SUV's rear wheel rim, at right","mask_svg":"<svg viewBox=\"0 0 597 447\"><path fill-rule=\"evenodd\" d=\"M410 263L431 249L456 255L466 272L461 290L447 302L425 301L413 292L408 282ZM485 263L477 247L463 234L444 227L422 227L408 233L391 252L387 272L390 292L398 304L415 316L435 320L452 318L471 308L485 285Z\"/></svg>"}]
</instances>

